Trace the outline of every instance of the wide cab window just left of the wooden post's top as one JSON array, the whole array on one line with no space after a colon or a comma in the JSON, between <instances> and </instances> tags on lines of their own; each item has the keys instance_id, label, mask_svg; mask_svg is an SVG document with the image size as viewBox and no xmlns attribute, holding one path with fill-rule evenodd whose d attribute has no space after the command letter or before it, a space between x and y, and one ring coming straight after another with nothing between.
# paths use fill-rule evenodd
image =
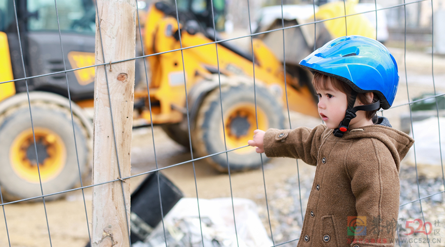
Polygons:
<instances>
[{"instance_id":1,"label":"wide cab window just left of the wooden post's top","mask_svg":"<svg viewBox=\"0 0 445 247\"><path fill-rule=\"evenodd\" d=\"M27 0L28 30L58 30L54 0ZM95 31L95 5L91 0L57 1L62 32L91 33Z\"/></svg>"}]
</instances>

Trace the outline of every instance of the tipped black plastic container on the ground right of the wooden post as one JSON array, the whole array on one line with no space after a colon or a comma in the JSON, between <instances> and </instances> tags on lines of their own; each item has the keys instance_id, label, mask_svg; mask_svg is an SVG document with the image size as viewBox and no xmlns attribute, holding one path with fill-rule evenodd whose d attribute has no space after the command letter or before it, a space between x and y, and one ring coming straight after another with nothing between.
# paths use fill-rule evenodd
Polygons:
<instances>
[{"instance_id":1,"label":"tipped black plastic container on the ground right of the wooden post","mask_svg":"<svg viewBox=\"0 0 445 247\"><path fill-rule=\"evenodd\" d=\"M159 186L158 186L159 174ZM153 172L145 178L131 195L131 235L132 244L142 241L151 233L162 220L161 201L159 200L159 189L161 191L162 212L164 216L183 197L182 192L161 172ZM90 247L88 243L86 247Z\"/></svg>"}]
</instances>

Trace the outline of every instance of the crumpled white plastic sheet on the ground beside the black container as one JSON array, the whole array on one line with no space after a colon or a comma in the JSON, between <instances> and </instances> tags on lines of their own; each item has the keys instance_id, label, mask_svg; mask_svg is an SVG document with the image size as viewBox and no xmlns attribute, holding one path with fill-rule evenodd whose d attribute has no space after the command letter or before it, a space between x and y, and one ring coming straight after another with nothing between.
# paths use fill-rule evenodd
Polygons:
<instances>
[{"instance_id":1,"label":"crumpled white plastic sheet on the ground beside the black container","mask_svg":"<svg viewBox=\"0 0 445 247\"><path fill-rule=\"evenodd\" d=\"M236 232L230 198L199 199L183 198L164 217L169 247L270 247L272 242L257 213L257 206L248 199L234 198ZM237 243L238 237L238 243ZM164 230L160 223L144 243L134 247L165 247Z\"/></svg>"}]
</instances>

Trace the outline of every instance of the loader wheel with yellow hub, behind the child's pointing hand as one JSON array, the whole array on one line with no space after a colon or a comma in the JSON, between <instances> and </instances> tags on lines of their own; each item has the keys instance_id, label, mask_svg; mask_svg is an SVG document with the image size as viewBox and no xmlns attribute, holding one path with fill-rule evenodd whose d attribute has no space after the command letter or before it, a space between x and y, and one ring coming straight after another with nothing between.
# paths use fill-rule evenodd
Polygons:
<instances>
[{"instance_id":1,"label":"loader wheel with yellow hub, behind the child's pointing hand","mask_svg":"<svg viewBox=\"0 0 445 247\"><path fill-rule=\"evenodd\" d=\"M256 86L256 96L258 116L263 118L263 121L259 121L261 125L259 128L263 130L271 127L284 128L283 109L276 97L259 83ZM257 128L253 84L224 86L222 98L224 128L227 129L225 131L227 150L247 145L247 139L252 139L253 130ZM242 110L248 108L246 112ZM220 90L215 89L204 99L192 134L193 149L199 156L225 151L222 123ZM238 149L227 154L230 171L255 169L261 166L261 157L253 147ZM225 153L207 160L220 171L228 170ZM264 155L263 161L267 161Z\"/></svg>"}]
</instances>

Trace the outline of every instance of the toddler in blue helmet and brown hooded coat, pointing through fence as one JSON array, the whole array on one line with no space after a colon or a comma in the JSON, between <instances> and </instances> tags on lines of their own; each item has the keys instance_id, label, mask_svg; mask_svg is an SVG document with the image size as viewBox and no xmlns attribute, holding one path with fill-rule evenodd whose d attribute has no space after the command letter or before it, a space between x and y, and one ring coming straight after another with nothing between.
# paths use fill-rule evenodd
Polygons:
<instances>
[{"instance_id":1,"label":"toddler in blue helmet and brown hooded coat, pointing through fence","mask_svg":"<svg viewBox=\"0 0 445 247\"><path fill-rule=\"evenodd\" d=\"M255 130L248 144L267 157L316 165L298 247L392 247L400 162L414 140L377 117L399 84L396 60L380 42L346 36L300 62L309 69L325 124Z\"/></svg>"}]
</instances>

